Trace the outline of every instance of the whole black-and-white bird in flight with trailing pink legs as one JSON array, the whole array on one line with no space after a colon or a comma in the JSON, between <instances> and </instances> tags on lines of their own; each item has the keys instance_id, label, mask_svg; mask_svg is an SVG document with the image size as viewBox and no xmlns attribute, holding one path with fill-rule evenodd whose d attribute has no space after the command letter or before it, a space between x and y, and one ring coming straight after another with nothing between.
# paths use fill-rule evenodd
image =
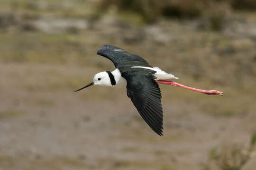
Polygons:
<instances>
[{"instance_id":1,"label":"whole black-and-white bird in flight with trailing pink legs","mask_svg":"<svg viewBox=\"0 0 256 170\"><path fill-rule=\"evenodd\" d=\"M115 46L104 45L98 50L97 54L110 59L116 69L112 72L97 73L93 77L93 82L75 92L91 85L116 86L126 80L127 96L148 126L160 136L163 136L163 109L158 83L178 86L205 94L223 94L223 92L217 90L201 90L169 81L168 79L179 78L158 67L152 67L140 56L128 53Z\"/></svg>"}]
</instances>

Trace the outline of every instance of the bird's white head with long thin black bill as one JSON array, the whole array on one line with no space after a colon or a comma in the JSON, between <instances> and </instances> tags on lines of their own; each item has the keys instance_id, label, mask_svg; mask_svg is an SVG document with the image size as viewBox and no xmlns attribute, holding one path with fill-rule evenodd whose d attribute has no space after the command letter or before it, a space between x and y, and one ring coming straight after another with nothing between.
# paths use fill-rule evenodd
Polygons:
<instances>
[{"instance_id":1,"label":"bird's white head with long thin black bill","mask_svg":"<svg viewBox=\"0 0 256 170\"><path fill-rule=\"evenodd\" d=\"M104 85L104 86L112 86L111 85L111 81L110 81L110 76L106 71L97 73L94 77L93 77L93 82L91 82L89 85L85 85L84 87L76 90L75 92L82 90L86 87L89 87L91 85Z\"/></svg>"}]
</instances>

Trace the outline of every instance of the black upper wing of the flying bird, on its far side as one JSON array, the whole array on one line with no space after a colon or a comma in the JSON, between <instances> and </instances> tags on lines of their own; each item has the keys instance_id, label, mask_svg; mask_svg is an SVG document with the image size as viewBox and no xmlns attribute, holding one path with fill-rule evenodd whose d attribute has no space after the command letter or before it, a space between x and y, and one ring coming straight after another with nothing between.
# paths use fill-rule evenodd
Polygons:
<instances>
[{"instance_id":1,"label":"black upper wing of the flying bird, on its far side","mask_svg":"<svg viewBox=\"0 0 256 170\"><path fill-rule=\"evenodd\" d=\"M116 68L118 68L118 65L121 65L126 61L139 61L146 64L146 66L151 67L147 61L140 56L128 53L123 49L111 45L104 45L97 51L97 54L110 59Z\"/></svg>"}]
</instances>

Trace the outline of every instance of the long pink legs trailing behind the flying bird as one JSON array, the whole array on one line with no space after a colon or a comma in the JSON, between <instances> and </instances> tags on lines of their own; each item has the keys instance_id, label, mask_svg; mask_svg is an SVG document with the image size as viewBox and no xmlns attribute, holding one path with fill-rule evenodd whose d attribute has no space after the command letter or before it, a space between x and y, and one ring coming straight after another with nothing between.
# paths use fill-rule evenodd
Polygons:
<instances>
[{"instance_id":1,"label":"long pink legs trailing behind the flying bird","mask_svg":"<svg viewBox=\"0 0 256 170\"><path fill-rule=\"evenodd\" d=\"M186 88L186 89L190 89L196 92L200 92L200 93L205 93L205 94L212 94L212 95L223 95L223 92L219 92L218 90L201 90L201 89L196 89L196 88L192 88L192 87L188 87L185 85L181 85L177 82L174 81L167 81L167 80L157 80L157 83L161 83L161 84L165 84L165 85L173 85L173 86L178 86L178 87L182 87L182 88Z\"/></svg>"}]
</instances>

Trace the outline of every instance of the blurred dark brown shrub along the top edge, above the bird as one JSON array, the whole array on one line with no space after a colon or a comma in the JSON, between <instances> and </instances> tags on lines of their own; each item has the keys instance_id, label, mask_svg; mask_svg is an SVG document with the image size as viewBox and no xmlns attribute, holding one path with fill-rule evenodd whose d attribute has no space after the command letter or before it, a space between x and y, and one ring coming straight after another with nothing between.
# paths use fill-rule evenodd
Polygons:
<instances>
[{"instance_id":1,"label":"blurred dark brown shrub along the top edge, above the bird","mask_svg":"<svg viewBox=\"0 0 256 170\"><path fill-rule=\"evenodd\" d=\"M160 16L198 17L207 0L101 0L99 8L108 9L111 5L119 11L132 11L142 15L146 22L154 22Z\"/></svg>"}]
</instances>

